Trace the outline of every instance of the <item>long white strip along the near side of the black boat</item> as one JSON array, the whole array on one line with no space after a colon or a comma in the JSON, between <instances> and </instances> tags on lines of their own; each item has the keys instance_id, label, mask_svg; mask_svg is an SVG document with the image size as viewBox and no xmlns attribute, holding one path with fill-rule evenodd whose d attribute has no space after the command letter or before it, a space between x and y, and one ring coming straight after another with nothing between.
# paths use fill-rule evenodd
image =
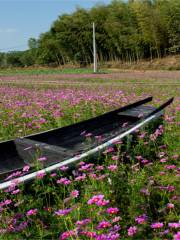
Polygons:
<instances>
[{"instance_id":1,"label":"long white strip along the near side of the black boat","mask_svg":"<svg viewBox=\"0 0 180 240\"><path fill-rule=\"evenodd\" d=\"M156 114L155 115L152 115L150 117L148 117L147 119L145 119L144 121L138 123L136 126L130 128L129 130L127 130L126 132L118 135L117 137L115 138L112 138L111 140L85 152L85 153L82 153L78 156L75 156L73 158L70 158L68 160L65 160L63 162L60 162L60 163L56 163L52 166L49 166L49 167L46 167L44 169L41 169L41 170L38 170L38 171L35 171L33 173L30 173L30 174L27 174L25 176L22 176L22 177L18 177L18 178L14 178L13 180L10 180L10 181L6 181L6 182L3 182L0 184L0 190L3 190L3 189L6 189L8 187L10 187L13 183L17 182L18 184L19 183L22 183L22 182L26 182L26 181L29 181L29 180L32 180L34 179L38 174L44 174L44 173L48 173L48 172L52 172L62 166L66 166L66 165L69 165L70 163L75 163L77 161L80 161L90 155L93 155L99 151L102 151L104 149L106 149L107 147L115 144L117 141L119 141L120 139L122 139L123 137L127 136L128 134L134 132L136 129L142 127L143 125L145 125L146 123L148 123L149 121L151 121L153 118L156 117Z\"/></svg>"}]
</instances>

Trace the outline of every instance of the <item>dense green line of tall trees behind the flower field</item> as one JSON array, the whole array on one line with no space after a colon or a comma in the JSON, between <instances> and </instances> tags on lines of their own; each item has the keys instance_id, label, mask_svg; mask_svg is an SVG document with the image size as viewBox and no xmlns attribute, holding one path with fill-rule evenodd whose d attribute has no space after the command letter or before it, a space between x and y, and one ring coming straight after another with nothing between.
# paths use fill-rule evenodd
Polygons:
<instances>
[{"instance_id":1,"label":"dense green line of tall trees behind the flower field","mask_svg":"<svg viewBox=\"0 0 180 240\"><path fill-rule=\"evenodd\" d=\"M134 62L180 53L179 0L113 0L60 15L49 31L29 39L28 50L0 53L0 66L86 66L93 61L92 22L99 62Z\"/></svg>"}]
</instances>

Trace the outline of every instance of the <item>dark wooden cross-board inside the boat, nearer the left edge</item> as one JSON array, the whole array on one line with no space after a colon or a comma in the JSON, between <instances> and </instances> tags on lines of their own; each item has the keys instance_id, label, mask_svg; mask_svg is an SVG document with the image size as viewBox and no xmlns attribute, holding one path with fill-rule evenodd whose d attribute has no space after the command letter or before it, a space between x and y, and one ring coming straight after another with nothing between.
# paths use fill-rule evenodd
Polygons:
<instances>
[{"instance_id":1,"label":"dark wooden cross-board inside the boat, nearer the left edge","mask_svg":"<svg viewBox=\"0 0 180 240\"><path fill-rule=\"evenodd\" d=\"M27 138L17 138L14 143L20 158L33 166L38 163L37 159L41 160L43 166L49 166L73 156L69 149Z\"/></svg>"}]
</instances>

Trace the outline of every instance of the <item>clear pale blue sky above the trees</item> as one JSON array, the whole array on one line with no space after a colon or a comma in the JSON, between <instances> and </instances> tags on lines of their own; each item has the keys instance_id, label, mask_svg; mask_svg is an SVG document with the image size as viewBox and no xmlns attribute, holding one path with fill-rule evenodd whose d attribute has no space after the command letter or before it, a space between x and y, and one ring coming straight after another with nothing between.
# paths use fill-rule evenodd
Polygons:
<instances>
[{"instance_id":1,"label":"clear pale blue sky above the trees","mask_svg":"<svg viewBox=\"0 0 180 240\"><path fill-rule=\"evenodd\" d=\"M25 50L59 15L111 0L0 0L0 52Z\"/></svg>"}]
</instances>

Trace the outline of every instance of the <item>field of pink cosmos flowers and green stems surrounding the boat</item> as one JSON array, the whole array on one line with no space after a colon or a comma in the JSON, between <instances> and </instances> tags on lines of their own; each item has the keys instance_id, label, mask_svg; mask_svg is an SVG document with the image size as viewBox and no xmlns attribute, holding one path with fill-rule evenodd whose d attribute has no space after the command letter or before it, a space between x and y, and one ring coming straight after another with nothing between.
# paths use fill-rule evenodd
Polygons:
<instances>
[{"instance_id":1,"label":"field of pink cosmos flowers and green stems surrounding the boat","mask_svg":"<svg viewBox=\"0 0 180 240\"><path fill-rule=\"evenodd\" d=\"M0 192L0 239L180 239L178 80L163 85L162 79L137 83L112 77L107 83L87 77L73 84L56 76L60 84L51 84L53 75L49 81L33 76L1 80L1 141L79 122L150 95L155 105L175 100L163 125L136 132L135 145L117 142L101 156L79 162L73 172L62 167ZM8 179L30 170L26 165Z\"/></svg>"}]
</instances>

